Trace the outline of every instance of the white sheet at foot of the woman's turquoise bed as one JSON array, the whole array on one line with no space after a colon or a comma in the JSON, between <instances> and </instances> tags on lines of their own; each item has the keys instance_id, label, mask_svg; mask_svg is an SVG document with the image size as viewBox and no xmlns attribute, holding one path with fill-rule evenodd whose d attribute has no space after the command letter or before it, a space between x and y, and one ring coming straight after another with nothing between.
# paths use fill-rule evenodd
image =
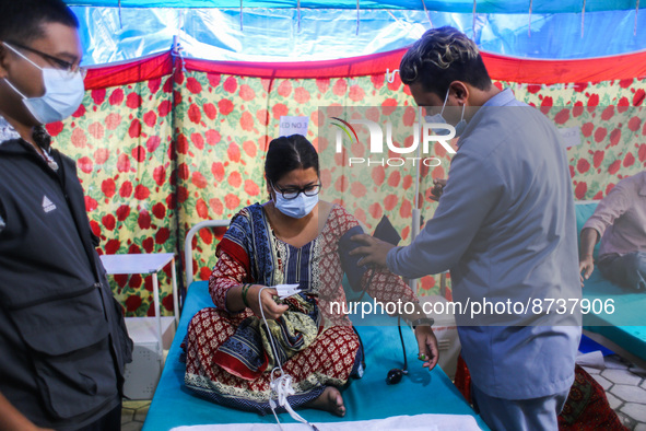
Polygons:
<instances>
[{"instance_id":1,"label":"white sheet at foot of the woman's turquoise bed","mask_svg":"<svg viewBox=\"0 0 646 431\"><path fill-rule=\"evenodd\" d=\"M398 430L398 431L480 431L478 422L468 415L414 415L394 416L386 419L359 420L353 422L316 422L320 431ZM307 431L303 423L281 423L285 431ZM275 431L277 423L222 423L209 426L177 427L171 431Z\"/></svg>"}]
</instances>

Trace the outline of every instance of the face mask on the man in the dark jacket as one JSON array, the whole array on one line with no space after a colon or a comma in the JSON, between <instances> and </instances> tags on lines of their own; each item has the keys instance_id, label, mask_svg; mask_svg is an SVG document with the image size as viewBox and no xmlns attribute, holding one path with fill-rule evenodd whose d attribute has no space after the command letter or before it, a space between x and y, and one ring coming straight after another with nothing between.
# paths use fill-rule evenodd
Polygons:
<instances>
[{"instance_id":1,"label":"face mask on the man in the dark jacket","mask_svg":"<svg viewBox=\"0 0 646 431\"><path fill-rule=\"evenodd\" d=\"M4 78L4 82L23 98L23 103L36 121L44 125L60 121L77 110L85 95L85 85L80 71L42 68L11 45L4 43L4 46L43 71L45 94L40 97L25 96Z\"/></svg>"}]
</instances>

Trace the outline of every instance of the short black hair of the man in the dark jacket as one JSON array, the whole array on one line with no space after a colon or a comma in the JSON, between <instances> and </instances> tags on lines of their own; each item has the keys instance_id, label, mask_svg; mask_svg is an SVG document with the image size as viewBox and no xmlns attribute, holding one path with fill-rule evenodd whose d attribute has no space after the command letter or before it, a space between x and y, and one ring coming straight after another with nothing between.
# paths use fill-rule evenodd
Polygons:
<instances>
[{"instance_id":1,"label":"short black hair of the man in the dark jacket","mask_svg":"<svg viewBox=\"0 0 646 431\"><path fill-rule=\"evenodd\" d=\"M62 0L0 0L0 40L27 43L40 38L45 23L79 28L79 20Z\"/></svg>"}]
</instances>

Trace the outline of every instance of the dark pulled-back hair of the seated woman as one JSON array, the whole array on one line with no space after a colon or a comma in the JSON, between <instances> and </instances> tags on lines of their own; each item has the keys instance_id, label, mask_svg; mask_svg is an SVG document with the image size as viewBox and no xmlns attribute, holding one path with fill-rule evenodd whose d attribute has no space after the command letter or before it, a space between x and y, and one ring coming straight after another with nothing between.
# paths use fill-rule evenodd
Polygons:
<instances>
[{"instance_id":1,"label":"dark pulled-back hair of the seated woman","mask_svg":"<svg viewBox=\"0 0 646 431\"><path fill-rule=\"evenodd\" d=\"M270 184L275 184L289 172L309 167L314 167L316 175L319 175L318 154L312 142L304 136L280 137L269 142L265 160L265 176Z\"/></svg>"}]
</instances>

